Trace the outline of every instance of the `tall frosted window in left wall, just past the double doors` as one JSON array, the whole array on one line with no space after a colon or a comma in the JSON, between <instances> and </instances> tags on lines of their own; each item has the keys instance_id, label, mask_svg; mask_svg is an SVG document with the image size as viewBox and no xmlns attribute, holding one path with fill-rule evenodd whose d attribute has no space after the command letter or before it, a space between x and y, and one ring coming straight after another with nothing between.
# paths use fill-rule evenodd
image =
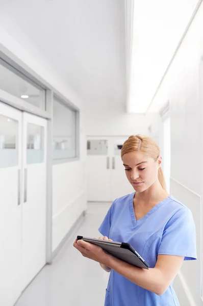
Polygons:
<instances>
[{"instance_id":1,"label":"tall frosted window in left wall, just past the double doors","mask_svg":"<svg viewBox=\"0 0 203 306\"><path fill-rule=\"evenodd\" d=\"M54 99L53 158L55 160L77 157L77 113Z\"/></svg>"}]
</instances>

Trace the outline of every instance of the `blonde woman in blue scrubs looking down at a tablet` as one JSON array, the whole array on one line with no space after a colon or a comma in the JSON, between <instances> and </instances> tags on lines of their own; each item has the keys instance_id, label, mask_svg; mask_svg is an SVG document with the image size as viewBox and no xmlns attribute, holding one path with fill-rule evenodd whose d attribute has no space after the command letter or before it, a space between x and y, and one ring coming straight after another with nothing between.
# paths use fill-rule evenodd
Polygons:
<instances>
[{"instance_id":1,"label":"blonde woman in blue scrubs looking down at a tablet","mask_svg":"<svg viewBox=\"0 0 203 306\"><path fill-rule=\"evenodd\" d=\"M169 195L156 142L136 135L125 141L121 158L135 192L116 199L99 232L100 239L130 243L149 264L134 267L102 248L75 240L83 256L110 272L105 306L178 306L173 279L184 260L196 259L191 211Z\"/></svg>"}]
</instances>

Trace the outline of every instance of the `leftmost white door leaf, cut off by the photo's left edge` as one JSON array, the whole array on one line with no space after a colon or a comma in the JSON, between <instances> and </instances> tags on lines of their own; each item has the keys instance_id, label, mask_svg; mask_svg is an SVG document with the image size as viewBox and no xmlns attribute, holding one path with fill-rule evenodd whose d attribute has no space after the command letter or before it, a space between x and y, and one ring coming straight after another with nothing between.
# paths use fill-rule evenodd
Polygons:
<instances>
[{"instance_id":1,"label":"leftmost white door leaf, cut off by the photo's left edge","mask_svg":"<svg viewBox=\"0 0 203 306\"><path fill-rule=\"evenodd\" d=\"M22 114L0 102L0 305L21 293Z\"/></svg>"}]
</instances>

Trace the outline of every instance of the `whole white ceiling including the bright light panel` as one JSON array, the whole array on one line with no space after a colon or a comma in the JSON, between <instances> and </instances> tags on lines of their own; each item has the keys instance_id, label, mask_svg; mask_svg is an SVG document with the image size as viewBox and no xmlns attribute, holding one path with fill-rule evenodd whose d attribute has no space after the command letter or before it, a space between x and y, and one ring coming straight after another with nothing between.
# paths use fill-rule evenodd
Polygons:
<instances>
[{"instance_id":1,"label":"whole white ceiling including the bright light panel","mask_svg":"<svg viewBox=\"0 0 203 306\"><path fill-rule=\"evenodd\" d=\"M132 1L1 0L0 26L85 103L144 113L198 0L134 0L126 100L124 5Z\"/></svg>"}]
</instances>

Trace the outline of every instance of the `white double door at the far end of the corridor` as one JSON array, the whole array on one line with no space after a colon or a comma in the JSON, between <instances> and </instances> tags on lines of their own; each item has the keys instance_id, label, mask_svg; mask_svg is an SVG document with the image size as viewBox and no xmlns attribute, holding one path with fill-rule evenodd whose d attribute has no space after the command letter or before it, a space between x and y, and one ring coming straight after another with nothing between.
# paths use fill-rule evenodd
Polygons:
<instances>
[{"instance_id":1,"label":"white double door at the far end of the corridor","mask_svg":"<svg viewBox=\"0 0 203 306\"><path fill-rule=\"evenodd\" d=\"M126 137L87 138L88 201L111 202L133 192L121 160Z\"/></svg>"}]
</instances>

